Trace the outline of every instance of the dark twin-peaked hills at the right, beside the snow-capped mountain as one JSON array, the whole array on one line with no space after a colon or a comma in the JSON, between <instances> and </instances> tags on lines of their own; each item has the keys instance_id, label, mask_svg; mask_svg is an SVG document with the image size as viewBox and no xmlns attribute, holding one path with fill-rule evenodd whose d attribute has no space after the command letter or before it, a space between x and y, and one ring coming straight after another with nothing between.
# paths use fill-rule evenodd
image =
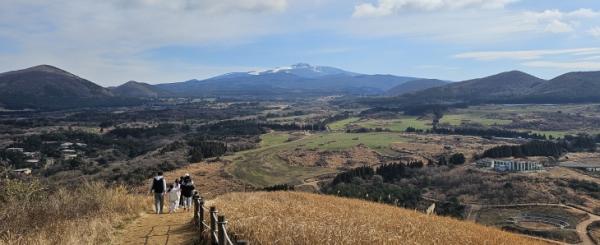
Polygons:
<instances>
[{"instance_id":1,"label":"dark twin-peaked hills at the right, beside the snow-capped mountain","mask_svg":"<svg viewBox=\"0 0 600 245\"><path fill-rule=\"evenodd\" d=\"M521 71L451 83L406 94L415 103L600 102L600 72L571 72L544 80Z\"/></svg>"}]
</instances>

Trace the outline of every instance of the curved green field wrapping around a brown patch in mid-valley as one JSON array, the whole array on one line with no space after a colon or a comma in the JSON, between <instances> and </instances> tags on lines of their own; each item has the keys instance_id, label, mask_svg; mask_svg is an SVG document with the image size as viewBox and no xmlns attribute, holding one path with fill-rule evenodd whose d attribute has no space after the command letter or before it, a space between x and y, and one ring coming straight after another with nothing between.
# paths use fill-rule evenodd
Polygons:
<instances>
[{"instance_id":1,"label":"curved green field wrapping around a brown patch in mid-valley","mask_svg":"<svg viewBox=\"0 0 600 245\"><path fill-rule=\"evenodd\" d=\"M322 167L291 166L277 154L295 149L344 150L364 144L378 152L391 154L390 144L406 141L397 133L348 134L342 132L320 133L288 141L287 133L277 132L262 136L261 148L239 152L228 157L232 161L227 171L255 186L275 184L301 184L307 178L338 172Z\"/></svg>"}]
</instances>

